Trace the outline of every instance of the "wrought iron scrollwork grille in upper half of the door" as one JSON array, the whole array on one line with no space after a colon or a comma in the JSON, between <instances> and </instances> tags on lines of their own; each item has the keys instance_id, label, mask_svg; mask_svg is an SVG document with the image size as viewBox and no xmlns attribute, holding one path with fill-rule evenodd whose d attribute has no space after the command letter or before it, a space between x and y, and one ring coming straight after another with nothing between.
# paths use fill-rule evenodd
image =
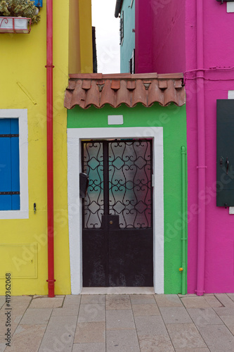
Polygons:
<instances>
[{"instance_id":1,"label":"wrought iron scrollwork grille in upper half of the door","mask_svg":"<svg viewBox=\"0 0 234 352\"><path fill-rule=\"evenodd\" d=\"M84 228L102 227L103 215L118 215L123 229L152 227L152 139L82 142L82 165Z\"/></svg>"}]
</instances>

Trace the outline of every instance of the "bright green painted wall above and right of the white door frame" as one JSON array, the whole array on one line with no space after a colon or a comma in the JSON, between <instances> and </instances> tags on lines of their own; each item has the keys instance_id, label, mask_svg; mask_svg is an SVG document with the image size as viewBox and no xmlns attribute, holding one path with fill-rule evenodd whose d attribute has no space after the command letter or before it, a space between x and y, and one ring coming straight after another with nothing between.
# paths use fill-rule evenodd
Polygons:
<instances>
[{"instance_id":1,"label":"bright green painted wall above and right of the white door frame","mask_svg":"<svg viewBox=\"0 0 234 352\"><path fill-rule=\"evenodd\" d=\"M164 135L164 293L181 293L181 146L186 146L186 106L150 108L105 106L84 110L79 106L67 111L68 128L115 127L108 125L108 115L124 115L118 127L163 127ZM111 136L110 136L111 137ZM187 179L187 176L186 176Z\"/></svg>"}]
</instances>

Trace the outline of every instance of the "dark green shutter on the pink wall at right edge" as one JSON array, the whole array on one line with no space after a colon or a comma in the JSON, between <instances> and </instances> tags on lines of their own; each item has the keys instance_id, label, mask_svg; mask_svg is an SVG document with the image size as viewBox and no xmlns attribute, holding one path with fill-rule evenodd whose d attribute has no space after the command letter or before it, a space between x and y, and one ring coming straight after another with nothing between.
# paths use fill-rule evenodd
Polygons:
<instances>
[{"instance_id":1,"label":"dark green shutter on the pink wall at right edge","mask_svg":"<svg viewBox=\"0 0 234 352\"><path fill-rule=\"evenodd\" d=\"M234 100L218 99L216 205L234 206Z\"/></svg>"}]
</instances>

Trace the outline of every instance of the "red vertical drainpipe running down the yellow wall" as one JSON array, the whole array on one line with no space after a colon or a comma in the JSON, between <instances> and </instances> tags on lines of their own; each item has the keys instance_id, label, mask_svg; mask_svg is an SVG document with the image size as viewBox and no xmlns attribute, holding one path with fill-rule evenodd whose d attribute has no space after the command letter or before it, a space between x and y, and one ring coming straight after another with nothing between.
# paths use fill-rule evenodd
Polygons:
<instances>
[{"instance_id":1,"label":"red vertical drainpipe running down the yellow wall","mask_svg":"<svg viewBox=\"0 0 234 352\"><path fill-rule=\"evenodd\" d=\"M46 1L48 297L54 297L53 263L53 0Z\"/></svg>"}]
</instances>

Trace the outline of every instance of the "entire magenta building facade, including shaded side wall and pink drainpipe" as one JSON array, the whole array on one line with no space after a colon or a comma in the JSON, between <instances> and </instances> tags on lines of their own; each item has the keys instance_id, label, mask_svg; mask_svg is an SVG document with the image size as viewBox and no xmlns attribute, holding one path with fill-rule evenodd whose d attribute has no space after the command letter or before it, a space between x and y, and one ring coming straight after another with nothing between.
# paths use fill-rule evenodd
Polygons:
<instances>
[{"instance_id":1,"label":"entire magenta building facade, including shaded side wall and pink drainpipe","mask_svg":"<svg viewBox=\"0 0 234 352\"><path fill-rule=\"evenodd\" d=\"M234 215L216 207L216 99L234 90L234 12L215 0L144 3L136 1L136 73L185 77L188 293L233 292Z\"/></svg>"}]
</instances>

